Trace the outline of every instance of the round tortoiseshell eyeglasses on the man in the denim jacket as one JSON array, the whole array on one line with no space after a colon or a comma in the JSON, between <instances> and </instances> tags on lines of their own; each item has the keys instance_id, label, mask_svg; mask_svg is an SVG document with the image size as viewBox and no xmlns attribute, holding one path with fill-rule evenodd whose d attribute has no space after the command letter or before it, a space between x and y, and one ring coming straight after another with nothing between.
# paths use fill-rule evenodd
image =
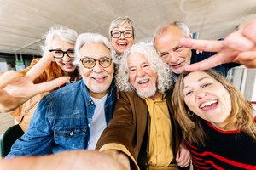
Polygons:
<instances>
[{"instance_id":1,"label":"round tortoiseshell eyeglasses on the man in the denim jacket","mask_svg":"<svg viewBox=\"0 0 256 170\"><path fill-rule=\"evenodd\" d=\"M80 59L80 62L87 69L92 69L96 65L96 61L98 61L103 68L108 68L112 64L112 59L109 59L108 57L102 57L101 59L91 59L90 57L84 57Z\"/></svg>"}]
</instances>

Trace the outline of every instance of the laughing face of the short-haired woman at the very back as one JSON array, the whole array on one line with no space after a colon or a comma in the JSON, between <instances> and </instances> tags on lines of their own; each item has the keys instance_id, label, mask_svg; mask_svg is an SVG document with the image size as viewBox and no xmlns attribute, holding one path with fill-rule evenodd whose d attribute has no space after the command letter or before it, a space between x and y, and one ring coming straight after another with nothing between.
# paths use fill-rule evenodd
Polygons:
<instances>
[{"instance_id":1,"label":"laughing face of the short-haired woman at the very back","mask_svg":"<svg viewBox=\"0 0 256 170\"><path fill-rule=\"evenodd\" d=\"M133 32L132 27L130 24L125 23L121 26L114 27L112 31L125 31L124 33L121 33L120 37L111 36L111 43L113 45L114 50L117 54L123 54L125 49L131 47L132 44L134 43L134 37L131 37L131 31Z\"/></svg>"}]
</instances>

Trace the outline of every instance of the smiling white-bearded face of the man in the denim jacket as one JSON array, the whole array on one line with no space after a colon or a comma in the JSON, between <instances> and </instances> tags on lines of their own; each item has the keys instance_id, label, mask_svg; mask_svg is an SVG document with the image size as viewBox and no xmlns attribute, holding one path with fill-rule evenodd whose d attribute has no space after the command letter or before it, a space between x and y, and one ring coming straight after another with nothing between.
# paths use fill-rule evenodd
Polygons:
<instances>
[{"instance_id":1,"label":"smiling white-bearded face of the man in the denim jacket","mask_svg":"<svg viewBox=\"0 0 256 170\"><path fill-rule=\"evenodd\" d=\"M112 59L109 49L102 43L86 43L80 48L79 56L79 59L90 59L90 62L96 59L96 65L90 69L85 68L80 61L79 69L90 96L102 98L108 93L113 79L113 63L111 61L111 65L104 68L97 59Z\"/></svg>"}]
</instances>

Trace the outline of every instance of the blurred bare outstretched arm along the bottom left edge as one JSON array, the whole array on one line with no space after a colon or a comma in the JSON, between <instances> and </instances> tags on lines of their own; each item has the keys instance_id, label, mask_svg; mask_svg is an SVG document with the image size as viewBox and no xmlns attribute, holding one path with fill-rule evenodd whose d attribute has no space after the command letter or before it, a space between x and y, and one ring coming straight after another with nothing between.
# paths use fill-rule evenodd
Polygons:
<instances>
[{"instance_id":1,"label":"blurred bare outstretched arm along the bottom left edge","mask_svg":"<svg viewBox=\"0 0 256 170\"><path fill-rule=\"evenodd\" d=\"M72 150L49 156L22 156L0 161L0 169L37 170L124 170L108 154L96 150Z\"/></svg>"}]
</instances>

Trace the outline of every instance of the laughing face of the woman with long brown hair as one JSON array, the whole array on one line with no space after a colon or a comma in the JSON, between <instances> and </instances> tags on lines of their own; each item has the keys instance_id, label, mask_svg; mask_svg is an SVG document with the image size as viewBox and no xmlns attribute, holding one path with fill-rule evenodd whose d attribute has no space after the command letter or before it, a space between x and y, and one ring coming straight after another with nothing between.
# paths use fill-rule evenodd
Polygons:
<instances>
[{"instance_id":1,"label":"laughing face of the woman with long brown hair","mask_svg":"<svg viewBox=\"0 0 256 170\"><path fill-rule=\"evenodd\" d=\"M189 109L221 127L231 111L230 94L224 86L203 71L189 73L183 82L184 101Z\"/></svg>"}]
</instances>

